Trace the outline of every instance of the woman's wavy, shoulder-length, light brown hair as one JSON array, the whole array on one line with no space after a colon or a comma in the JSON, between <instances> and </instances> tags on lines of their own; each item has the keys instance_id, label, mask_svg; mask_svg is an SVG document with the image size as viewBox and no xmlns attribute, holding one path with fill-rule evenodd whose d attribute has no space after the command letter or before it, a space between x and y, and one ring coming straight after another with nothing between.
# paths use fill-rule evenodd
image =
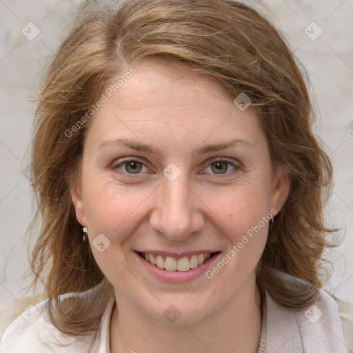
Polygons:
<instances>
[{"instance_id":1,"label":"woman's wavy, shoulder-length, light brown hair","mask_svg":"<svg viewBox=\"0 0 353 353\"><path fill-rule=\"evenodd\" d=\"M41 228L30 261L31 285L43 283L50 321L67 334L88 334L101 317L94 308L113 293L90 246L82 243L72 205L70 187L80 178L90 122L72 127L83 121L108 83L146 59L206 74L230 97L250 97L272 163L290 177L288 199L270 226L256 267L257 283L284 307L307 307L322 286L323 252L334 246L327 240L334 230L325 226L323 213L332 165L312 131L305 70L282 34L259 10L231 0L88 1L52 58L34 121L34 222ZM290 288L277 272L308 285ZM84 302L63 307L59 300L60 294L99 284Z\"/></svg>"}]
</instances>

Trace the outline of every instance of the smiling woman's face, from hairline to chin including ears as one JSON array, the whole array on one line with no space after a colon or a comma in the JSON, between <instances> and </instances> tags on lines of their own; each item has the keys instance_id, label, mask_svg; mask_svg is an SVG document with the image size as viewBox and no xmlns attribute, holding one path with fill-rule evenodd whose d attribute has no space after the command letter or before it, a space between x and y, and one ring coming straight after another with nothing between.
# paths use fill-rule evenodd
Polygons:
<instances>
[{"instance_id":1,"label":"smiling woman's face, from hairline to chin including ears","mask_svg":"<svg viewBox=\"0 0 353 353\"><path fill-rule=\"evenodd\" d=\"M134 68L90 121L72 201L118 307L166 322L174 305L195 323L254 292L288 179L259 117L212 79Z\"/></svg>"}]
</instances>

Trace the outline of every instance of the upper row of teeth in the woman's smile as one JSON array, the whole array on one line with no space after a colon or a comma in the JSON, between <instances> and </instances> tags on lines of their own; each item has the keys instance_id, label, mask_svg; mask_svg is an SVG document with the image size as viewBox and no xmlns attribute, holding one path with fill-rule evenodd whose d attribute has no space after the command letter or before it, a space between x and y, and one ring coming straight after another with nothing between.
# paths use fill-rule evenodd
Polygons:
<instances>
[{"instance_id":1,"label":"upper row of teeth in the woman's smile","mask_svg":"<svg viewBox=\"0 0 353 353\"><path fill-rule=\"evenodd\" d=\"M197 254L190 256L181 257L175 259L171 256L165 256L159 254L142 254L143 257L152 265L156 265L158 268L167 271L188 271L190 268L196 268L201 265L204 261L210 258L211 254Z\"/></svg>"}]
</instances>

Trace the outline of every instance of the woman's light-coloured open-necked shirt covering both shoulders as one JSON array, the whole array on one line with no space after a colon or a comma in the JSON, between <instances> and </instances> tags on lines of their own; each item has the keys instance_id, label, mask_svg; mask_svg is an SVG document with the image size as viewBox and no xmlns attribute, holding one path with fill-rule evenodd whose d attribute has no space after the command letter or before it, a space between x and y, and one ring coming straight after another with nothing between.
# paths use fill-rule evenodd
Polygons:
<instances>
[{"instance_id":1,"label":"woman's light-coloured open-necked shirt covering both shoulders","mask_svg":"<svg viewBox=\"0 0 353 353\"><path fill-rule=\"evenodd\" d=\"M90 291L69 295L85 296ZM62 334L50 323L47 303L48 299L28 307L3 335L0 331L0 353L115 353L110 352L114 297L103 309L97 331L81 339ZM332 299L323 291L314 305L292 312L276 304L266 293L257 353L353 353L353 305ZM0 314L3 311L0 308Z\"/></svg>"}]
</instances>

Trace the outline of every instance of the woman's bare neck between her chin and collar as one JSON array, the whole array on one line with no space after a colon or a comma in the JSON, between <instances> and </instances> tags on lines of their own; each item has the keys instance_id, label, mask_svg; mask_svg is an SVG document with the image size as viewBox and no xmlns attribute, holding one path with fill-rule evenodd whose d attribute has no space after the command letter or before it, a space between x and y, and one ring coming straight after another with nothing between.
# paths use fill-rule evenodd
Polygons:
<instances>
[{"instance_id":1,"label":"woman's bare neck between her chin and collar","mask_svg":"<svg viewBox=\"0 0 353 353\"><path fill-rule=\"evenodd\" d=\"M255 281L253 284L252 288L241 288L227 305L192 325L154 321L116 292L111 353L255 353L261 336L261 296Z\"/></svg>"}]
</instances>

